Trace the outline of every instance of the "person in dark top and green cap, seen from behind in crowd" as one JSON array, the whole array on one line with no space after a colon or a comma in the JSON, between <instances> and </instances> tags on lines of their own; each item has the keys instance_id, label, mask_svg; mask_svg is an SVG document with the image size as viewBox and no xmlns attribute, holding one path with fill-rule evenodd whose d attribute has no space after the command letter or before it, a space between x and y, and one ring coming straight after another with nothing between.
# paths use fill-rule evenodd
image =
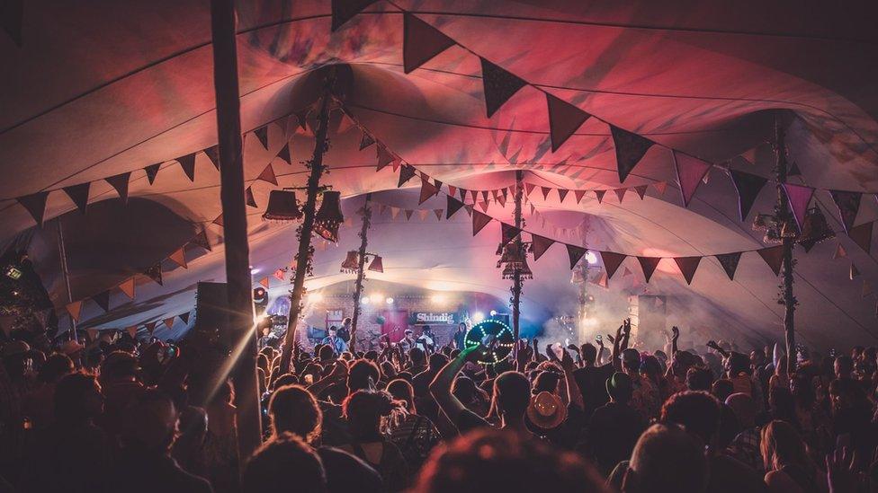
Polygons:
<instances>
[{"instance_id":1,"label":"person in dark top and green cap, seen from behind in crowd","mask_svg":"<svg viewBox=\"0 0 878 493\"><path fill-rule=\"evenodd\" d=\"M597 408L588 421L590 453L605 476L615 465L631 457L645 421L632 409L633 385L628 374L616 372L606 380L610 401Z\"/></svg>"}]
</instances>

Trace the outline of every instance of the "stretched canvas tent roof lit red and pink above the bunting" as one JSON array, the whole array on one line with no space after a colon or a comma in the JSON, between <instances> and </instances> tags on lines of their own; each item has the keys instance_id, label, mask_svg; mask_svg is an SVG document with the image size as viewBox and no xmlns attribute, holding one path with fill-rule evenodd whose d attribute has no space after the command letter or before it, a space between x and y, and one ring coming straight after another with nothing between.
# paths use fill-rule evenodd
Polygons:
<instances>
[{"instance_id":1,"label":"stretched canvas tent roof lit red and pink above the bunting","mask_svg":"<svg viewBox=\"0 0 878 493\"><path fill-rule=\"evenodd\" d=\"M402 10L456 43L409 74L403 70ZM309 289L351 277L338 265L358 245L356 211L373 192L376 212L383 214L374 218L369 250L381 253L385 272L370 276L506 299L509 283L495 268L499 224L473 237L464 211L447 220L434 211L447 206L447 185L502 189L514 185L515 170L526 170L524 181L536 187L525 206L528 232L583 244L581 232L587 231L585 244L598 251L665 258L649 285L637 260L625 260L609 290L596 288L598 304L618 307L628 293L671 295L679 300L671 322L729 339L781 339L778 279L759 255L745 253L734 280L705 257L691 286L670 259L765 246L750 224L756 212L771 212L774 183L741 221L738 194L723 168L773 176L770 142L779 119L790 159L802 172L791 182L817 189L811 205L838 233L807 255L797 249L798 333L817 346L873 341L878 319L868 289L878 287L878 265L845 234L826 190L878 191L876 10L873 2L839 8L715 1L670 9L658 2L400 0L376 2L331 32L328 2L240 2L241 123L256 204L247 209L255 278L289 266L296 248L295 225L261 218L269 191L277 188L263 172L271 165L278 186L304 184L303 162L314 138L297 114L316 101L320 81L336 66L339 101L324 182L342 193L345 216L354 221L342 228L337 246L318 244ZM0 38L0 241L30 245L49 295L63 307L67 289L57 255L62 219L73 298L112 289L110 313L86 303L83 327L124 328L187 312L195 282L224 277L222 227L213 224L221 211L219 172L200 152L217 142L210 27L203 1L94 1L28 5L22 46ZM479 57L527 83L490 118ZM554 152L547 92L593 116ZM624 183L607 123L658 143ZM253 133L266 124L267 149ZM421 180L398 189L395 166L376 172L376 145L360 151L363 129L405 163L441 180L442 193L418 205ZM290 164L278 157L288 142ZM688 207L668 147L719 164ZM175 159L193 153L190 180L191 169ZM150 183L144 168L154 164L160 166ZM126 172L128 206L104 180ZM70 198L76 189L61 189L85 182L91 187L82 217ZM633 188L642 185L648 188L641 199ZM546 197L542 187L551 189ZM620 202L613 190L623 187L629 191ZM573 193L561 200L558 189L609 192L599 203L592 191L581 200ZM45 190L52 191L40 229L16 198ZM391 207L401 210L395 219ZM407 220L405 209L428 213ZM512 206L491 197L486 214L510 223ZM876 217L874 195L864 195L855 224ZM186 269L166 260L164 286L138 275L202 230L212 251L184 250ZM838 243L847 256L834 259ZM860 272L854 280L852 262ZM531 267L525 318L569 312L576 291L567 251L555 245ZM115 286L135 275L131 301ZM270 282L273 295L289 289L287 280ZM615 320L623 313L606 316Z\"/></svg>"}]
</instances>

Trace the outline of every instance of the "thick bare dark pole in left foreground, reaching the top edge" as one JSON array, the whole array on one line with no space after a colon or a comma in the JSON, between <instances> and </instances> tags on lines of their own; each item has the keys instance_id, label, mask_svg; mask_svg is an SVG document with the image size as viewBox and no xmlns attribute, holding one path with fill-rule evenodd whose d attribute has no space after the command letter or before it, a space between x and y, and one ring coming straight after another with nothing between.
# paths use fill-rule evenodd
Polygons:
<instances>
[{"instance_id":1,"label":"thick bare dark pole in left foreground, reaching the top edge","mask_svg":"<svg viewBox=\"0 0 878 493\"><path fill-rule=\"evenodd\" d=\"M213 85L219 137L219 198L226 254L229 333L241 348L232 369L237 407L237 450L241 462L260 445L262 427L256 383L253 286L247 243L244 156L241 150L240 99L234 0L211 0Z\"/></svg>"}]
</instances>

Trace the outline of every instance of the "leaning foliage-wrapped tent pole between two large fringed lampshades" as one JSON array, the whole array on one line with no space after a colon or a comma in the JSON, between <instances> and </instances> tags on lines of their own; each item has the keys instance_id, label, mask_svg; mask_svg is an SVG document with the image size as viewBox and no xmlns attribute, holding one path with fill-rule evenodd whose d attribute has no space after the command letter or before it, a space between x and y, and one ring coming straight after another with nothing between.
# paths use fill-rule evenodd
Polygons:
<instances>
[{"instance_id":1,"label":"leaning foliage-wrapped tent pole between two large fringed lampshades","mask_svg":"<svg viewBox=\"0 0 878 493\"><path fill-rule=\"evenodd\" d=\"M315 134L314 156L309 166L311 173L308 177L308 198L303 208L304 218L299 229L299 252L296 254L296 273L292 283L290 316L287 318L287 332L283 338L283 351L281 354L281 374L290 371L290 357L292 348L296 344L296 328L299 325L301 314L302 295L305 291L305 277L311 268L311 255L314 247L311 246L311 235L314 230L314 216L317 209L317 196L320 193L320 177L323 175L323 154L327 151L327 130L329 127L329 101L332 99L331 90L335 82L335 72L331 71L327 77L327 86L320 101L318 128Z\"/></svg>"}]
</instances>

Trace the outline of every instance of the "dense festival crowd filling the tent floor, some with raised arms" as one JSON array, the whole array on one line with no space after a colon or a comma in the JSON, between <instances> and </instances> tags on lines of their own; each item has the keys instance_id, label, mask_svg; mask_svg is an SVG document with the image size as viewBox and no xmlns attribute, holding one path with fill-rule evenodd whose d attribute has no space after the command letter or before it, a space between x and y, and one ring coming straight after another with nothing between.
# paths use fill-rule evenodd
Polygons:
<instances>
[{"instance_id":1,"label":"dense festival crowd filling the tent floor, some with raised arms","mask_svg":"<svg viewBox=\"0 0 878 493\"><path fill-rule=\"evenodd\" d=\"M678 338L648 351L624 321L579 347L520 340L496 365L463 337L356 354L333 339L297 345L284 372L267 345L249 457L234 389L204 399L184 343L6 340L0 493L878 490L878 349Z\"/></svg>"}]
</instances>

